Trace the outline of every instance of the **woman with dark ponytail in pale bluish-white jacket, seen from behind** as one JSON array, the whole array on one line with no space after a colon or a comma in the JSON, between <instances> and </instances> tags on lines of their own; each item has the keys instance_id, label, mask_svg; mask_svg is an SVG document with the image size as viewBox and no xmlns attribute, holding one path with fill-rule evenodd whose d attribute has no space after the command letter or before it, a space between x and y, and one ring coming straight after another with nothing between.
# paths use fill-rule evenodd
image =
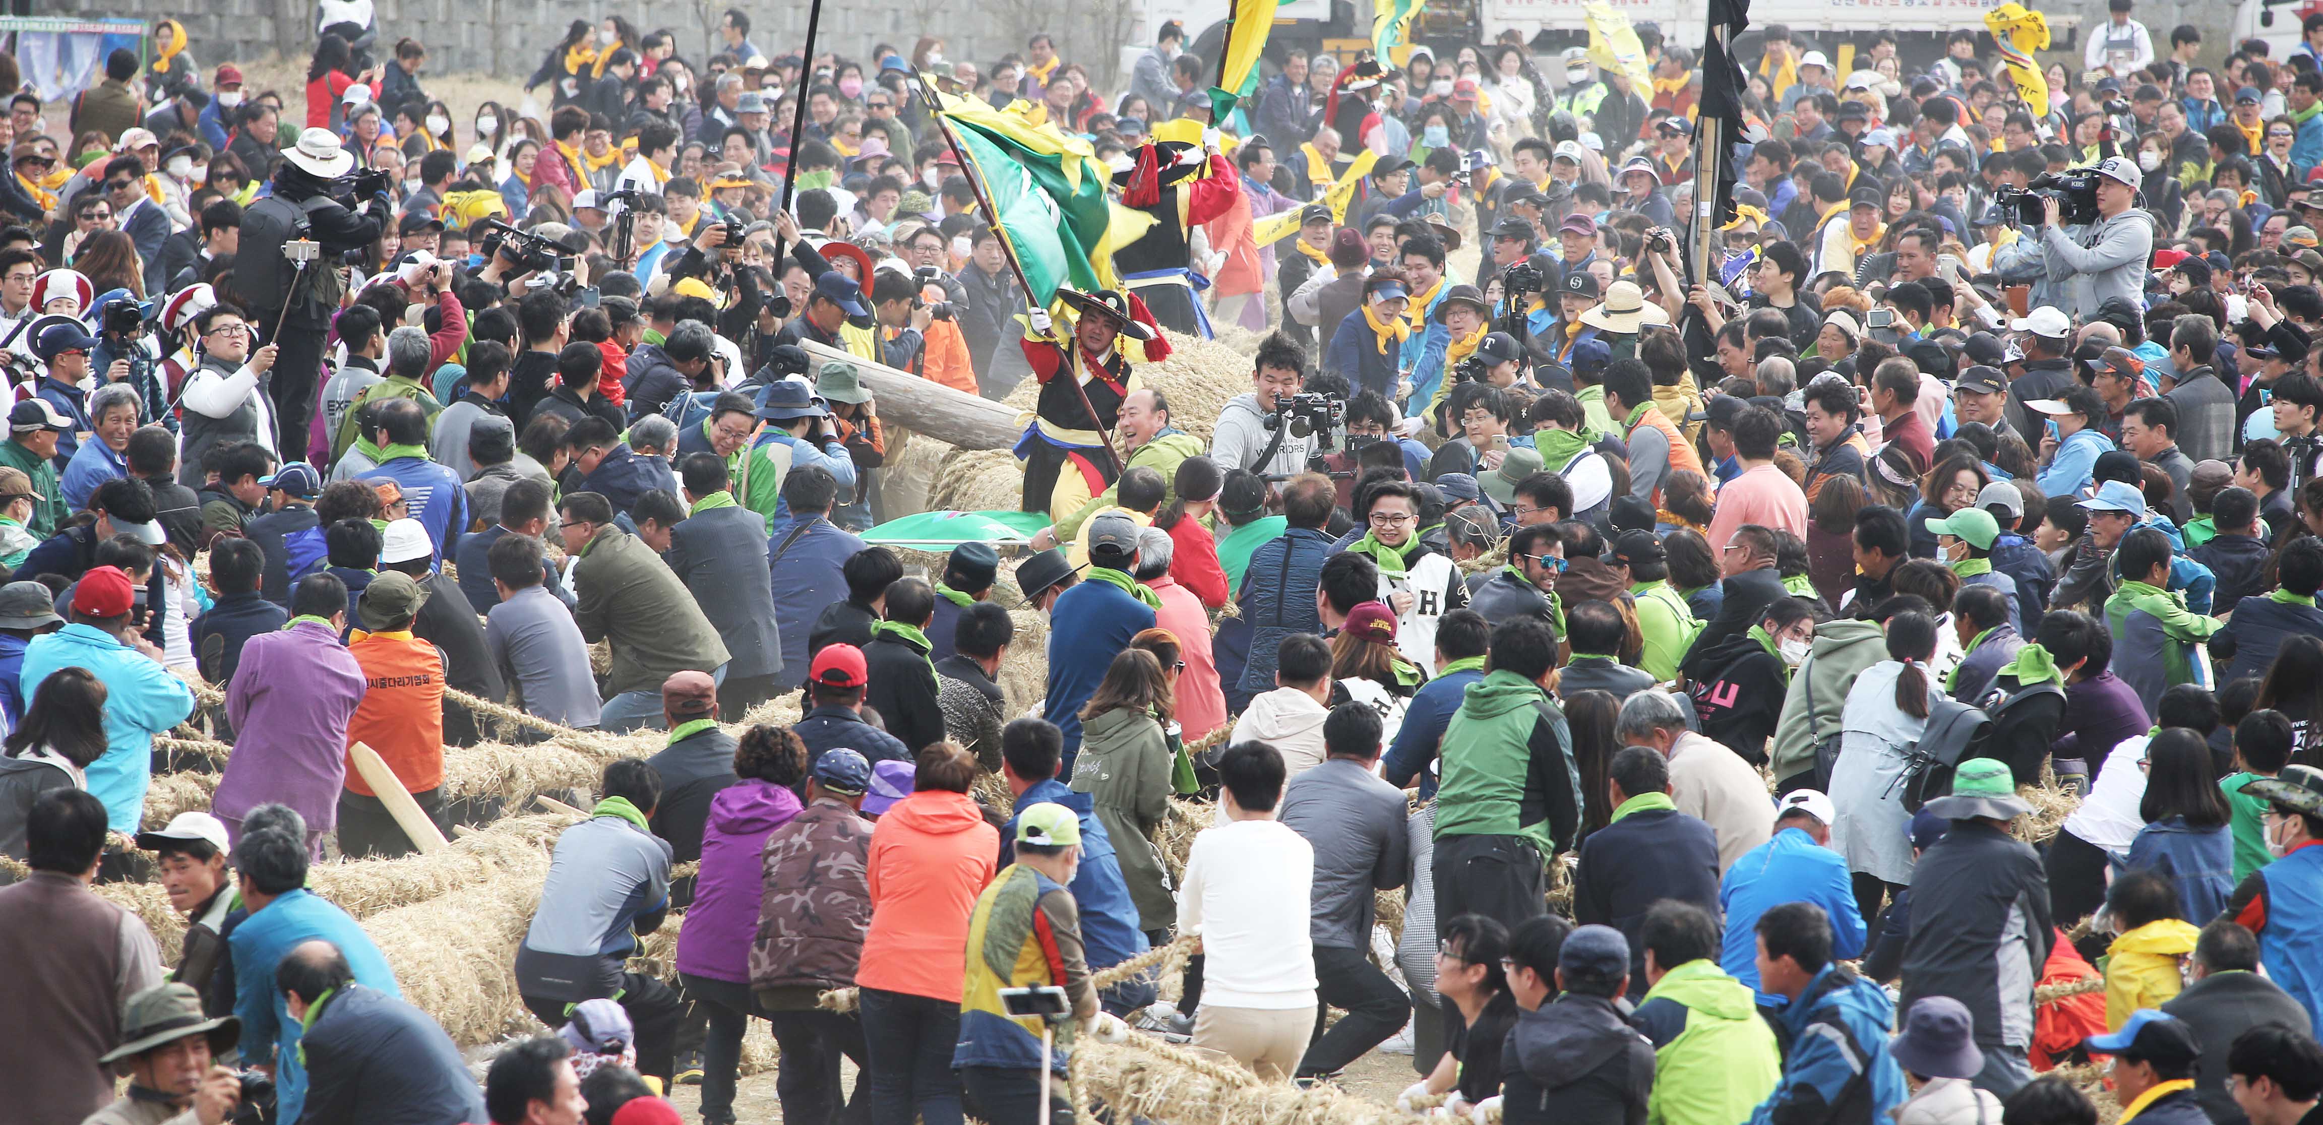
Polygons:
<instances>
[{"instance_id":1,"label":"woman with dark ponytail in pale bluish-white jacket, seen from behind","mask_svg":"<svg viewBox=\"0 0 2323 1125\"><path fill-rule=\"evenodd\" d=\"M1847 858L1856 904L1865 918L1912 881L1912 814L1903 807L1912 748L1928 730L1928 709L1942 700L1935 672L1935 616L1907 609L1886 616L1889 658L1863 669L1847 688L1840 718L1840 760L1831 767L1831 848Z\"/></svg>"}]
</instances>

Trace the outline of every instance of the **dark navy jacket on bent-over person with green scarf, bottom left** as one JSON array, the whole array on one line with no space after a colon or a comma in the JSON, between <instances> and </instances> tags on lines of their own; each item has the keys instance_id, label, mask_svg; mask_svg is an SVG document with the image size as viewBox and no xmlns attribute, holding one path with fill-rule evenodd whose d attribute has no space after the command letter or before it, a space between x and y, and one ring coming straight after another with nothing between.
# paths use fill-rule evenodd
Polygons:
<instances>
[{"instance_id":1,"label":"dark navy jacket on bent-over person with green scarf, bottom left","mask_svg":"<svg viewBox=\"0 0 2323 1125\"><path fill-rule=\"evenodd\" d=\"M346 986L300 1037L311 1120L486 1120L483 1095L444 1027L376 988Z\"/></svg>"}]
</instances>

